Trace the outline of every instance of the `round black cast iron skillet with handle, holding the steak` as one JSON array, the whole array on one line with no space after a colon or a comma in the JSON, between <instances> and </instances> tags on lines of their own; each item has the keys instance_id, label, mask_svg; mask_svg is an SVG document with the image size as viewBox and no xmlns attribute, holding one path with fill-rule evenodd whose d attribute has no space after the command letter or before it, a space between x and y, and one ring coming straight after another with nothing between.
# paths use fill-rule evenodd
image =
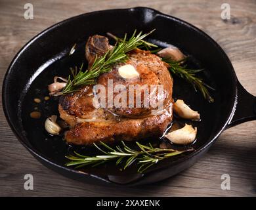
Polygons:
<instances>
[{"instance_id":1,"label":"round black cast iron skillet with handle, holding the steak","mask_svg":"<svg viewBox=\"0 0 256 210\"><path fill-rule=\"evenodd\" d=\"M149 41L160 47L171 43L192 55L190 66L205 68L201 76L215 88L211 92L215 102L210 104L190 85L174 77L174 96L183 98L202 116L202 121L196 124L198 140L193 144L196 150L179 158L166 159L144 174L135 173L133 168L119 171L111 164L94 169L87 167L83 171L65 167L64 155L70 147L59 137L49 137L43 128L45 118L57 113L58 99L35 104L33 98L43 98L48 94L47 85L52 83L54 75L66 76L70 66L81 64L89 35L106 35L110 31L122 36L135 29L147 32L154 28L156 31L150 35ZM78 45L77 52L68 56L74 43ZM90 12L55 24L39 33L16 54L3 82L3 109L18 140L47 167L87 182L104 180L137 185L171 177L205 154L224 129L256 119L255 104L255 96L240 85L230 60L211 37L187 22L144 7ZM35 106L41 110L41 119L29 116Z\"/></svg>"}]
</instances>

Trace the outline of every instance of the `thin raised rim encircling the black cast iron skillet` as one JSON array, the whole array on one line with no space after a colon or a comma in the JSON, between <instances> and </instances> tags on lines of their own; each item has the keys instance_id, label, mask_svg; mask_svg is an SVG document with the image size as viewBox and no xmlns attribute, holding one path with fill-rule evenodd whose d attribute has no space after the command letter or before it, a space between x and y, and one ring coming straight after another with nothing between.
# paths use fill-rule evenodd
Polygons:
<instances>
[{"instance_id":1,"label":"thin raised rim encircling the black cast iron skillet","mask_svg":"<svg viewBox=\"0 0 256 210\"><path fill-rule=\"evenodd\" d=\"M56 24L54 24L53 26L50 26L49 28L46 28L45 30L41 31L40 33L38 33L37 35L35 35L32 39L30 39L30 41L28 41L21 49L20 51L18 51L18 53L16 53L16 55L14 56L14 58L11 61L11 64L9 65L7 72L5 73L5 77L3 79L3 87L2 87L2 104L3 104L3 111L5 114L5 117L7 119L7 122L9 123L9 126L11 127L12 132L14 133L14 135L16 136L16 138L18 138L18 140L22 143L22 145L25 146L25 148L27 148L34 156L37 156L37 158L42 159L43 161L46 161L47 163L58 167L60 169L64 169L66 171L70 171L73 173L76 173L78 175L90 175L93 177L96 177L98 179L101 179L101 176L95 176L95 175L91 175L91 174L87 174L84 173L83 171L77 171L75 169L72 169L70 167L64 167L58 163L56 163L55 161L51 160L51 158L46 157L44 154L41 154L41 152L37 151L35 148L33 148L32 146L28 145L26 143L26 138L24 137L24 135L22 135L21 133L18 133L18 131L16 130L16 128L14 127L14 124L12 123L12 119L10 117L10 110L7 108L8 107L8 102L6 100L6 96L7 96L7 85L8 84L8 80L9 77L12 73L12 69L13 66L16 62L16 60L19 58L19 56L24 53L24 51L26 51L26 49L32 45L32 43L34 43L35 41L37 41L37 39L41 36L43 36L45 33L54 30L55 28L58 28L58 26L62 26L68 22L72 22L72 20L76 19L76 18L80 18L80 17L86 17L92 14L97 14L97 13L101 13L101 12L114 12L114 11L135 11L135 10L150 10L156 13L156 15L160 15L163 16L165 18L174 20L176 22L181 22L182 24L184 24L185 26L192 28L192 30L196 30L198 33L200 33L201 35L203 35L204 37L206 37L209 41L211 41L211 43L213 43L215 45L215 47L218 49L219 53L221 53L224 56L224 59L226 60L226 63L229 66L229 70L230 70L230 81L232 81L232 102L230 103L230 110L228 113L228 117L227 119L223 120L223 126L218 130L218 132L215 134L215 136L213 138L209 138L209 142L205 143L201 148L198 148L198 150L188 154L187 156L184 156L181 159L177 159L176 161L171 162L168 166L166 167L162 167L160 169L154 170L154 171L150 171L149 173L146 174L150 174L150 173L157 173L158 171L160 171L161 169L165 169L167 167L171 167L171 165L176 165L179 164L183 161L186 161L187 159L192 158L193 156L196 156L197 154L199 154L200 152L202 152L203 150L205 150L206 148L209 148L209 146L211 144L213 144L213 142L215 142L215 140L219 137L219 135L221 135L221 133L224 131L224 129L226 128L226 125L230 122L230 120L232 119L232 117L234 116L234 112L236 110L236 102L237 102L237 77L236 77L236 73L234 72L234 68L232 66L232 63L230 62L230 59L228 58L228 56L226 55L226 53L224 52L224 50L219 46L219 44L212 39L209 35L207 35L207 33L205 33L204 31L200 30L199 28L197 28L196 26L193 26L192 24L181 20L179 18L176 18L174 16L168 15L168 14L163 14L160 11L156 11L155 9L151 9L148 7L132 7L132 8L127 8L127 9L108 9L108 10L101 10L101 11L94 11L94 12L87 12L87 13L83 13L83 14L79 14L77 16L73 16L71 18L67 18L66 20L62 20L61 22L58 22ZM106 182L111 182L110 180L106 180L104 179Z\"/></svg>"}]
</instances>

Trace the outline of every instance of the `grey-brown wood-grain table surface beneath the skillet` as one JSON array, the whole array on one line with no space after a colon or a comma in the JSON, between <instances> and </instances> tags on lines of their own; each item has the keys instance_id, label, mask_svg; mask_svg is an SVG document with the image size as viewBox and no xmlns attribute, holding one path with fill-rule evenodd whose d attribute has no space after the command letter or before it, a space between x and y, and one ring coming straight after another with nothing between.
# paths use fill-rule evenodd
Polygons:
<instances>
[{"instance_id":1,"label":"grey-brown wood-grain table surface beneath the skillet","mask_svg":"<svg viewBox=\"0 0 256 210\"><path fill-rule=\"evenodd\" d=\"M0 81L18 50L45 28L77 14L102 9L152 7L198 26L228 54L238 79L256 95L256 1L29 1L33 20L24 19L28 1L0 1ZM221 19L229 3L231 19ZM1 98L0 98L1 100ZM209 152L179 175L148 186L118 188L70 180L47 169L14 137L0 110L0 196L256 196L256 121L224 131ZM24 190L24 175L33 190ZM221 175L230 190L221 190Z\"/></svg>"}]
</instances>

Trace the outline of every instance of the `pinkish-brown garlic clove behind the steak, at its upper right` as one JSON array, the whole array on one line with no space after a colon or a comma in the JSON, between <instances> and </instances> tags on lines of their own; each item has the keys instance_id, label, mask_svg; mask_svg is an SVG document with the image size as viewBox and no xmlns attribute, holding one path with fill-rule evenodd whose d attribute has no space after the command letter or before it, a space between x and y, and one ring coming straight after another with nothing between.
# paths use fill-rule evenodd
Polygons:
<instances>
[{"instance_id":1,"label":"pinkish-brown garlic clove behind the steak, at its upper right","mask_svg":"<svg viewBox=\"0 0 256 210\"><path fill-rule=\"evenodd\" d=\"M162 49L157 54L161 58L171 58L172 60L176 60L176 61L179 61L185 58L184 54L179 50L179 48L173 45L165 49Z\"/></svg>"}]
</instances>

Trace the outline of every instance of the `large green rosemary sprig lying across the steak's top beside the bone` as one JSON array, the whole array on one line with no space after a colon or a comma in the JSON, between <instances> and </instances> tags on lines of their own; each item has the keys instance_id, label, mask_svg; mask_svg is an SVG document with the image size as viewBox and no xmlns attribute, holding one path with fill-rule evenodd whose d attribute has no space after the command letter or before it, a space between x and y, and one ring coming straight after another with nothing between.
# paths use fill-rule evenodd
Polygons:
<instances>
[{"instance_id":1,"label":"large green rosemary sprig lying across the steak's top beside the bone","mask_svg":"<svg viewBox=\"0 0 256 210\"><path fill-rule=\"evenodd\" d=\"M153 45L151 43L148 43L142 39L150 35L150 33L153 31L154 30L145 34L142 34L142 31L140 31L140 33L136 35L137 31L135 30L129 39L127 39L127 35L125 34L125 37L121 39L121 41L117 41L112 50L105 53L104 56L96 57L91 68L85 70L85 72L83 72L82 68L80 68L78 73L72 72L74 79L71 79L69 75L68 82L61 94L72 93L77 91L81 85L94 83L95 78L100 74L109 72L117 63L124 63L126 60L128 60L126 53L129 51L133 51L140 46L152 47Z\"/></svg>"}]
</instances>

